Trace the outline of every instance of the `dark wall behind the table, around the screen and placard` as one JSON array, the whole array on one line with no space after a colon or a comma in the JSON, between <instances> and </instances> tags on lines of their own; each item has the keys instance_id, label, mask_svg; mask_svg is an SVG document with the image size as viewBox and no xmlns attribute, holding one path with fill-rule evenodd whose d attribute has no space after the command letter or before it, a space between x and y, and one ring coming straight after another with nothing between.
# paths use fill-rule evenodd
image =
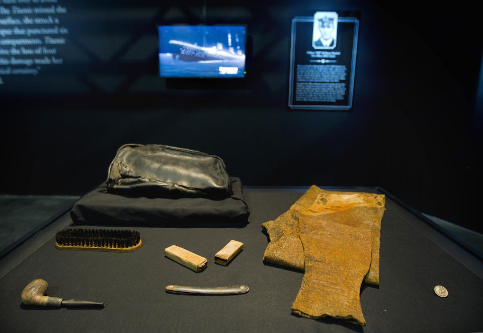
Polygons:
<instances>
[{"instance_id":1,"label":"dark wall behind the table, around the screen and placard","mask_svg":"<svg viewBox=\"0 0 483 333\"><path fill-rule=\"evenodd\" d=\"M66 64L0 86L2 193L82 194L106 178L119 146L158 143L221 156L246 185L377 185L483 231L482 37L469 2L59 4ZM287 108L291 19L320 10L360 13L349 112ZM247 24L247 80L158 78L156 24L175 23Z\"/></svg>"}]
</instances>

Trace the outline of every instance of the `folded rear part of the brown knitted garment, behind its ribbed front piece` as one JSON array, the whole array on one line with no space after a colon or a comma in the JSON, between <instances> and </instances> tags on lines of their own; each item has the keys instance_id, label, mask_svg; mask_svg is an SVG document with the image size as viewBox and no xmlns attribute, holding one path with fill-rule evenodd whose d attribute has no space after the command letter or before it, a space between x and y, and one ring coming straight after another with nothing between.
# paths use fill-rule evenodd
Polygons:
<instances>
[{"instance_id":1,"label":"folded rear part of the brown knitted garment, behind its ribbed front piece","mask_svg":"<svg viewBox=\"0 0 483 333\"><path fill-rule=\"evenodd\" d=\"M270 237L263 262L303 271L303 247L298 236L298 221L302 214L321 216L320 219L324 221L371 230L371 269L364 281L379 285L380 228L384 205L383 194L325 191L312 185L289 211L275 221L262 224Z\"/></svg>"}]
</instances>

